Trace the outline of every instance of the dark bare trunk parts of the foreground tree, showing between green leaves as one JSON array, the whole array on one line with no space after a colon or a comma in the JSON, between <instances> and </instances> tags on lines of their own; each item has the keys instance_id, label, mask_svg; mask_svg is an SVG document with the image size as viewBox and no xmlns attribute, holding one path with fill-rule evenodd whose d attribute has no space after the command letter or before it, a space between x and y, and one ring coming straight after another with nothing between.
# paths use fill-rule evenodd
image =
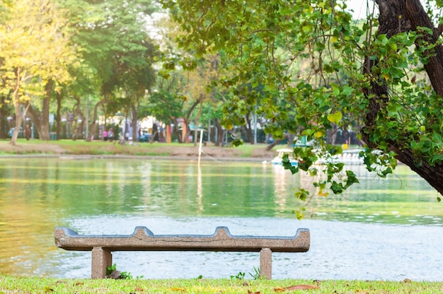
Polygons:
<instances>
[{"instance_id":1,"label":"dark bare trunk parts of the foreground tree, showing between green leaves","mask_svg":"<svg viewBox=\"0 0 443 294\"><path fill-rule=\"evenodd\" d=\"M438 31L432 25L427 13L420 4L420 0L375 0L379 5L379 33L386 34L386 37L392 37L398 33L408 30L415 30L417 27L427 27L434 31L434 35L428 35L426 40L431 43L437 41ZM425 70L430 78L435 92L443 97L443 47L437 45L433 52L425 52L428 57L428 63L425 64ZM366 73L371 73L371 68L375 61L369 57L365 61ZM365 119L365 125L362 128L362 139L371 148L377 148L377 142L371 141L370 134L376 127L376 117L383 115L384 108L389 101L389 89L385 81L379 79L372 81L370 88L364 89L364 94L369 99L369 110ZM411 137L413 134L411 134ZM417 165L417 158L409 148L408 142L398 146L398 142L388 142L389 150L394 151L396 158L408 165L411 170L417 172L423 179L437 189L437 192L443 194L443 165L436 164L431 166L427 160L422 160L421 165Z\"/></svg>"}]
</instances>

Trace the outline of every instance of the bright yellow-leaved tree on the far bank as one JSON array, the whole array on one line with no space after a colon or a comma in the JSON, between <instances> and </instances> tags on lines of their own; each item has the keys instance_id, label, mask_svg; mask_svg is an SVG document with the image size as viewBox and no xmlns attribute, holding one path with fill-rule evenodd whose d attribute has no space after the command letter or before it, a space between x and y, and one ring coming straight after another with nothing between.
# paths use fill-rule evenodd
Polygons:
<instances>
[{"instance_id":1,"label":"bright yellow-leaved tree on the far bank","mask_svg":"<svg viewBox=\"0 0 443 294\"><path fill-rule=\"evenodd\" d=\"M15 145L22 119L33 97L47 98L52 84L71 78L67 66L76 58L69 44L67 23L62 10L50 0L17 0L4 4L0 18L0 72L4 88L11 96L16 126ZM50 87L51 86L51 87ZM45 107L46 105L46 107ZM49 101L42 107L40 139L49 139Z\"/></svg>"}]
</instances>

